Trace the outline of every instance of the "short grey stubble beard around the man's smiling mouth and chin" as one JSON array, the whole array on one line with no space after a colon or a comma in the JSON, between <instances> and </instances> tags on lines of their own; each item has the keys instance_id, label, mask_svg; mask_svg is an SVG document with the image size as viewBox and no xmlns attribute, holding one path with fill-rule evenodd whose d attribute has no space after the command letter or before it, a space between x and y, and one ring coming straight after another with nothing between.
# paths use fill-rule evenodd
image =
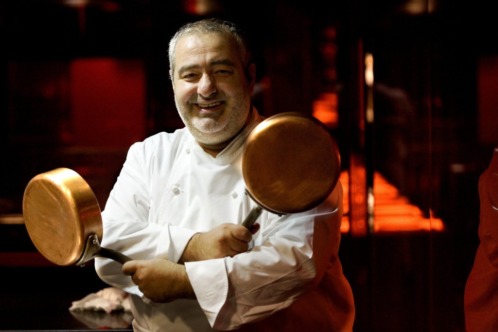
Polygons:
<instances>
[{"instance_id":1,"label":"short grey stubble beard around the man's smiling mouth and chin","mask_svg":"<svg viewBox=\"0 0 498 332\"><path fill-rule=\"evenodd\" d=\"M220 99L219 96L217 99ZM226 100L222 98L222 100ZM203 103L209 101L203 100ZM232 139L247 122L250 111L250 95L243 93L226 100L220 111L199 114L195 102L178 101L175 104L185 126L194 138L203 144L217 145Z\"/></svg>"}]
</instances>

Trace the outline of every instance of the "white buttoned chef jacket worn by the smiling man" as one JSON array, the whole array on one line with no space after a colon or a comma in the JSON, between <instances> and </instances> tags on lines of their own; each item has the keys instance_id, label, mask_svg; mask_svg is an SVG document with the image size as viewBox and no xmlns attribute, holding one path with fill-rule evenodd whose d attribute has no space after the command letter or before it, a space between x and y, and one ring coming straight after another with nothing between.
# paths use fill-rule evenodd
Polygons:
<instances>
[{"instance_id":1,"label":"white buttoned chef jacket worn by the smiling man","mask_svg":"<svg viewBox=\"0 0 498 332\"><path fill-rule=\"evenodd\" d=\"M254 109L249 125L216 158L186 128L133 144L102 213L101 245L132 259L178 262L195 233L242 223L256 206L245 193L242 149L260 121ZM272 317L279 317L279 331L301 331L295 330L299 320L308 327L324 321L326 331L350 331L353 296L337 257L340 184L331 198L327 214L319 208L284 216L263 211L247 252L186 262L197 300L152 303L111 259L96 258L96 271L131 294L135 331L276 331Z\"/></svg>"}]
</instances>

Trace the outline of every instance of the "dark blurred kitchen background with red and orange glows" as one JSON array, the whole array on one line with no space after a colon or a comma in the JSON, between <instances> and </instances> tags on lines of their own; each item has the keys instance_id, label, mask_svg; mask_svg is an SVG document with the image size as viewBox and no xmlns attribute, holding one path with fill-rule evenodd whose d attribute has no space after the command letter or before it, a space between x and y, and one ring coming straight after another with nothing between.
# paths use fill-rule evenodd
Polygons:
<instances>
[{"instance_id":1,"label":"dark blurred kitchen background with red and orange glows","mask_svg":"<svg viewBox=\"0 0 498 332\"><path fill-rule=\"evenodd\" d=\"M91 262L60 267L37 253L23 191L68 167L104 209L128 147L183 126L169 38L217 16L249 34L256 108L314 115L339 143L355 331L465 331L478 181L498 145L491 9L484 0L1 1L0 329L129 329L119 313L116 324L69 313L106 285Z\"/></svg>"}]
</instances>

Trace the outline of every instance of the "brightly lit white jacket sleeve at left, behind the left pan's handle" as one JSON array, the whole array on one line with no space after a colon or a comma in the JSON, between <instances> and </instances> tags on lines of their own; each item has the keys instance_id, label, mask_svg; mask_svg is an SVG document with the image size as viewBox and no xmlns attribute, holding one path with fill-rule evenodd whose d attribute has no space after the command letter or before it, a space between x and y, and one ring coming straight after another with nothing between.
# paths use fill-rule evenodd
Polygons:
<instances>
[{"instance_id":1,"label":"brightly lit white jacket sleeve at left, behind the left pan's handle","mask_svg":"<svg viewBox=\"0 0 498 332\"><path fill-rule=\"evenodd\" d=\"M101 246L121 252L131 259L166 258L176 262L194 231L149 222L154 159L163 157L154 156L150 150L154 149L144 142L130 147L102 212L104 233ZM95 268L106 283L142 296L131 278L122 273L120 263L97 257Z\"/></svg>"}]
</instances>

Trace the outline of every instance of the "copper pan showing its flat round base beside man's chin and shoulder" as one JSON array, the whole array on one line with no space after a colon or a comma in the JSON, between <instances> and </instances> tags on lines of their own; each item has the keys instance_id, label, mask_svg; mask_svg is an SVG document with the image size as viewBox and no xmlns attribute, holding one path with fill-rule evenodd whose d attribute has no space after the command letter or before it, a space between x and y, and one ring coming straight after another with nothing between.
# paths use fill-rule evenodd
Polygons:
<instances>
[{"instance_id":1,"label":"copper pan showing its flat round base beside man's chin and shoulder","mask_svg":"<svg viewBox=\"0 0 498 332\"><path fill-rule=\"evenodd\" d=\"M341 172L336 141L313 116L283 112L259 123L242 155L246 193L257 204L243 225L263 209L278 215L315 208L332 193Z\"/></svg>"}]
</instances>

